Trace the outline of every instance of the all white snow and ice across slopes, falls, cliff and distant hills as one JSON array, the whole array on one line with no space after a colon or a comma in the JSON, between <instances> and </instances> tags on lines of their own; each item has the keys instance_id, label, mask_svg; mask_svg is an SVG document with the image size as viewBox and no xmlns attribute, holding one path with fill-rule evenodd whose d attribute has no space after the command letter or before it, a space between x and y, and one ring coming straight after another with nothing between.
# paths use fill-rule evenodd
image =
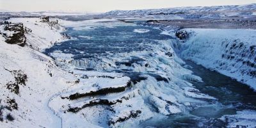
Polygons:
<instances>
[{"instance_id":1,"label":"all white snow and ice across slopes, falls, cliff and distant hills","mask_svg":"<svg viewBox=\"0 0 256 128\"><path fill-rule=\"evenodd\" d=\"M197 8L200 12L209 10L241 11L255 8L248 6L226 6L221 8ZM195 8L175 8L175 10L193 13ZM172 8L164 10L136 10L136 11L113 11L105 15L148 15L150 13L173 13ZM44 13L47 15L61 15L58 13ZM228 15L239 15L239 13L227 13ZM73 14L72 14L73 15ZM223 15L223 14L221 14ZM254 15L254 14L253 14ZM204 15L203 17L207 17ZM196 17L192 15L191 17ZM188 15L170 15L170 17L147 17L145 19L184 19ZM127 20L136 20L126 17ZM143 19L143 18L141 18ZM57 20L57 19L53 19ZM140 19L139 19L140 20ZM182 58L193 60L196 63L221 74L236 78L238 81L249 84L256 88L256 78L248 75L255 67L244 65L243 61L255 62L255 54L250 54L250 47L255 45L256 31L252 29L185 29L193 32L186 42L179 43L177 40L157 40L151 45L152 51L132 51L116 53L111 58L102 58L102 61L74 60L73 54L60 51L52 52L50 58L42 54L44 49L55 43L67 40L61 33L65 31L62 26L73 28L76 31L92 30L101 26L109 28L116 25L124 26L124 23L116 19L92 19L83 21L68 21L58 19L60 24L50 26L48 23L39 22L38 18L12 18L10 22L22 22L32 32L26 33L27 44L25 47L6 44L3 36L0 36L0 99L5 99L1 104L7 104L6 99L15 99L19 109L4 110L4 115L11 113L15 120L13 122L0 122L3 127L129 127L131 124L140 124L149 118L160 115L183 113L191 108L198 108L203 104L209 104L205 100L215 102L216 98L201 93L189 83L203 82L202 78L193 75L188 65L175 53L173 44L179 44L179 54ZM109 23L110 22L110 23ZM126 24L126 23L125 23ZM61 25L61 26L60 26ZM131 25L131 24L129 24ZM3 26L0 26L3 31ZM148 29L134 29L136 33L147 33ZM174 35L173 31L163 31L161 34ZM8 32L12 35L13 32ZM79 36L79 38L92 39L90 36ZM232 44L243 43L241 49L229 49ZM31 46L29 46L31 45ZM225 45L228 45L225 49ZM234 60L223 58L228 52L234 52ZM82 52L82 51L81 51ZM172 56L166 55L171 52ZM236 61L241 56L243 61ZM116 65L116 62L129 60L132 57L145 59L140 63L132 63L132 67ZM90 64L96 70L86 70ZM60 66L57 67L56 63ZM145 67L145 63L150 67ZM221 64L221 65L220 65ZM111 66L110 66L111 65ZM183 66L183 67L182 67ZM186 67L186 68L184 68ZM140 72L146 77L140 82L130 83L131 78L122 73L108 72L116 68ZM7 70L6 70L7 69ZM6 84L15 81L13 74L8 70L21 70L28 75L26 86L20 85L19 95L10 92ZM244 73L245 72L245 73ZM159 81L155 76L166 79ZM129 86L128 86L129 85ZM70 95L99 93L100 90L124 88L122 92L104 92L90 96L82 96L77 99L68 99ZM255 89L256 90L256 89ZM93 102L107 100L115 104L93 105ZM121 102L120 102L121 101ZM92 105L83 108L84 105ZM82 108L77 113L67 111L69 108ZM136 117L131 117L132 112L140 110ZM255 111L238 111L237 115L225 115L222 120L228 118L229 126L248 125L255 127ZM120 118L128 118L124 122L118 122ZM237 118L237 120L232 120ZM115 122L109 126L109 121Z\"/></svg>"}]
</instances>

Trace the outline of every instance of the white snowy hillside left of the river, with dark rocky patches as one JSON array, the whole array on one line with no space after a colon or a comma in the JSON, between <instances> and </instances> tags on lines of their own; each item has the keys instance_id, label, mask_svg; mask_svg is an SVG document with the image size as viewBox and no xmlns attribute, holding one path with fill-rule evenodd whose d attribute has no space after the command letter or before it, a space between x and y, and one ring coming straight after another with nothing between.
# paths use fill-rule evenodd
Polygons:
<instances>
[{"instance_id":1,"label":"white snowy hillside left of the river, with dark rocky patches","mask_svg":"<svg viewBox=\"0 0 256 128\"><path fill-rule=\"evenodd\" d=\"M10 19L23 23L26 45L7 44L0 35L0 122L1 127L60 127L61 120L48 106L48 100L70 86L76 78L56 67L52 58L38 50L63 40L60 26L50 27L41 19ZM3 30L12 38L15 31ZM11 28L11 24L10 24ZM29 30L29 31L28 31ZM70 83L67 83L70 81ZM10 115L9 115L10 114ZM9 118L6 118L9 115ZM13 121L10 121L10 116Z\"/></svg>"}]
</instances>

